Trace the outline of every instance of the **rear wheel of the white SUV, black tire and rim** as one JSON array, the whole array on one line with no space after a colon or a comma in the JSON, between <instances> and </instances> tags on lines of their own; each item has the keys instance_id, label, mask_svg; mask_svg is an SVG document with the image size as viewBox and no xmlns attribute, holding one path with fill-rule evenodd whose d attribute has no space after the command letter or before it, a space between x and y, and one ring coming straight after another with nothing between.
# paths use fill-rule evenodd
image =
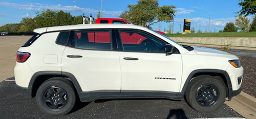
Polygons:
<instances>
[{"instance_id":1,"label":"rear wheel of the white SUV, black tire and rim","mask_svg":"<svg viewBox=\"0 0 256 119\"><path fill-rule=\"evenodd\" d=\"M76 103L71 81L54 77L42 83L36 92L36 102L42 112L60 116L69 113Z\"/></svg>"}]
</instances>

